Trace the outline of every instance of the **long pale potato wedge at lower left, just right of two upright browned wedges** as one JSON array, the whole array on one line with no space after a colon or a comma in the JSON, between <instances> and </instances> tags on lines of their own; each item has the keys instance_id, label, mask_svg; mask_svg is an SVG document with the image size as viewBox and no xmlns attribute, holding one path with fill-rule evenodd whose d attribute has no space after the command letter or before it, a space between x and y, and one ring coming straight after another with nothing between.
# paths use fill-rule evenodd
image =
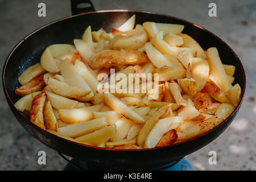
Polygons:
<instances>
[{"instance_id":1,"label":"long pale potato wedge at lower left, just right of two upright browned wedges","mask_svg":"<svg viewBox=\"0 0 256 182\"><path fill-rule=\"evenodd\" d=\"M98 118L61 127L58 129L57 133L65 137L76 138L102 129L106 125L106 118Z\"/></svg>"}]
</instances>

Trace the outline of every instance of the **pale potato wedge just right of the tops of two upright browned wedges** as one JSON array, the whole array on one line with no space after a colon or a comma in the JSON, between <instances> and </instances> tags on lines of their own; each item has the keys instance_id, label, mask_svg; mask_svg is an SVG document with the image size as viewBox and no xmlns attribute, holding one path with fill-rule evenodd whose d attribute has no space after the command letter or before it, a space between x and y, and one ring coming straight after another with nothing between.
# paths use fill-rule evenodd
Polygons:
<instances>
[{"instance_id":1,"label":"pale potato wedge just right of the tops of two upright browned wedges","mask_svg":"<svg viewBox=\"0 0 256 182\"><path fill-rule=\"evenodd\" d=\"M51 102L52 107L55 109L73 109L78 103L76 100L71 100L49 91L46 91L46 94L47 100Z\"/></svg>"}]
</instances>

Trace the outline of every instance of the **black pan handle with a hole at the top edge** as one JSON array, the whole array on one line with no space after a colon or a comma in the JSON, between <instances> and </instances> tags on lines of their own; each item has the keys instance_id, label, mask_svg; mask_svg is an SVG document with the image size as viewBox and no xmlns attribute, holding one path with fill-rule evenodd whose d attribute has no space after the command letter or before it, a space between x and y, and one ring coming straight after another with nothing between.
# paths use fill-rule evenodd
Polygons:
<instances>
[{"instance_id":1,"label":"black pan handle with a hole at the top edge","mask_svg":"<svg viewBox=\"0 0 256 182\"><path fill-rule=\"evenodd\" d=\"M72 15L95 11L93 3L90 0L71 0Z\"/></svg>"}]
</instances>

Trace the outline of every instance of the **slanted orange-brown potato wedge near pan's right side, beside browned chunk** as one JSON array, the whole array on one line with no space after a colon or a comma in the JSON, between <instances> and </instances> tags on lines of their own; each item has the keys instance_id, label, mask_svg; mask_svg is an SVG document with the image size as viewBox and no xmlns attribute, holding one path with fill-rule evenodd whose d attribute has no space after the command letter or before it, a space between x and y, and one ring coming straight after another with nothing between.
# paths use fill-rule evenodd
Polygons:
<instances>
[{"instance_id":1,"label":"slanted orange-brown potato wedge near pan's right side, beside browned chunk","mask_svg":"<svg viewBox=\"0 0 256 182\"><path fill-rule=\"evenodd\" d=\"M208 79L207 84L205 84L203 92L208 93L218 102L228 102L225 93L210 78Z\"/></svg>"}]
</instances>

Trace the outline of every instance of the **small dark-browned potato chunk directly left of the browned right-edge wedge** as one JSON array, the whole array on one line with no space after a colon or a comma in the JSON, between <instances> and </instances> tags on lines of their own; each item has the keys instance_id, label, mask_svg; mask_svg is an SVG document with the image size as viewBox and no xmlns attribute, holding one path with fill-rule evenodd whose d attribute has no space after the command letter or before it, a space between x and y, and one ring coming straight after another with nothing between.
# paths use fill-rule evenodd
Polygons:
<instances>
[{"instance_id":1,"label":"small dark-browned potato chunk directly left of the browned right-edge wedge","mask_svg":"<svg viewBox=\"0 0 256 182\"><path fill-rule=\"evenodd\" d=\"M212 103L210 96L207 93L197 92L193 97L193 102L197 110L204 108Z\"/></svg>"}]
</instances>

